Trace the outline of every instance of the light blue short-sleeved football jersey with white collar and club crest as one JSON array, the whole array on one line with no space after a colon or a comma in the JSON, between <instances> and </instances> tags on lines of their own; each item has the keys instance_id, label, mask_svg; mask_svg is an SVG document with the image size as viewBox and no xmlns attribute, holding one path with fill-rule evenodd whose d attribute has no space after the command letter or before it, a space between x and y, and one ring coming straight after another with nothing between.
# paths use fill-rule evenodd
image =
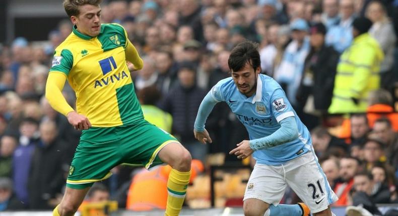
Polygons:
<instances>
[{"instance_id":1,"label":"light blue short-sleeved football jersey with white collar and club crest","mask_svg":"<svg viewBox=\"0 0 398 216\"><path fill-rule=\"evenodd\" d=\"M281 126L279 122L294 117L298 138L282 145L254 151L260 164L278 165L305 154L311 149L311 137L288 101L282 87L271 77L259 74L255 94L246 97L240 93L232 77L219 81L211 90L217 101L225 101L236 118L246 127L250 140L271 135Z\"/></svg>"}]
</instances>

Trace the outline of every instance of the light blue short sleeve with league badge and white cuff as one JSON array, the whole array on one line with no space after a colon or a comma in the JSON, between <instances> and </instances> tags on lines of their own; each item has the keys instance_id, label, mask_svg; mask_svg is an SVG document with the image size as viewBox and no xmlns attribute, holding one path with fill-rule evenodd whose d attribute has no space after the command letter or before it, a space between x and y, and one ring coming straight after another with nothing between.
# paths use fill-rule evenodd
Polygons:
<instances>
[{"instance_id":1,"label":"light blue short sleeve with league badge and white cuff","mask_svg":"<svg viewBox=\"0 0 398 216\"><path fill-rule=\"evenodd\" d=\"M278 122L288 117L295 116L293 107L281 88L277 88L271 95L271 110Z\"/></svg>"}]
</instances>

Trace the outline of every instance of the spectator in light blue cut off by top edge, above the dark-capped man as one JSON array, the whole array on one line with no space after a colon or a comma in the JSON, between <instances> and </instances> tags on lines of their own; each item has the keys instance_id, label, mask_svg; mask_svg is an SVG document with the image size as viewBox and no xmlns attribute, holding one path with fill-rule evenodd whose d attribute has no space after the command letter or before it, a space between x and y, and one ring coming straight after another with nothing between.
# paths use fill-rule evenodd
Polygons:
<instances>
[{"instance_id":1,"label":"spectator in light blue cut off by top edge, above the dark-capped man","mask_svg":"<svg viewBox=\"0 0 398 216\"><path fill-rule=\"evenodd\" d=\"M323 0L322 9L321 19L327 30L339 24L339 0Z\"/></svg>"}]
</instances>

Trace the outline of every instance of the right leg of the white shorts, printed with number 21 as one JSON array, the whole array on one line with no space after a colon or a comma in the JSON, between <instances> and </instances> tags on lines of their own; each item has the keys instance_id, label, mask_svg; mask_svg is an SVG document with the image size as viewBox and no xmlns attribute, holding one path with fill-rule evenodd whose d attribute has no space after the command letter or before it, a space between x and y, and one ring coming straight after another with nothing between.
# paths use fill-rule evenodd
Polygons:
<instances>
[{"instance_id":1,"label":"right leg of the white shorts, printed with number 21","mask_svg":"<svg viewBox=\"0 0 398 216\"><path fill-rule=\"evenodd\" d=\"M327 209L338 199L312 151L289 161L285 167L286 182L312 213Z\"/></svg>"}]
</instances>

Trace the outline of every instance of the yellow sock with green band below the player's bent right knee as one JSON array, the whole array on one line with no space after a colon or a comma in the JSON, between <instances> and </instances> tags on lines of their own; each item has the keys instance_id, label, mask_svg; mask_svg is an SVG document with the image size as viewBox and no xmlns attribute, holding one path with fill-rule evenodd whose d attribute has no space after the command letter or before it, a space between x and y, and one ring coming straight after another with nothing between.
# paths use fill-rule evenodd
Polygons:
<instances>
[{"instance_id":1,"label":"yellow sock with green band below the player's bent right knee","mask_svg":"<svg viewBox=\"0 0 398 216\"><path fill-rule=\"evenodd\" d=\"M186 188L188 187L191 171L179 172L175 169L170 171L167 181L167 205L166 216L177 216L182 208L185 199Z\"/></svg>"}]
</instances>

